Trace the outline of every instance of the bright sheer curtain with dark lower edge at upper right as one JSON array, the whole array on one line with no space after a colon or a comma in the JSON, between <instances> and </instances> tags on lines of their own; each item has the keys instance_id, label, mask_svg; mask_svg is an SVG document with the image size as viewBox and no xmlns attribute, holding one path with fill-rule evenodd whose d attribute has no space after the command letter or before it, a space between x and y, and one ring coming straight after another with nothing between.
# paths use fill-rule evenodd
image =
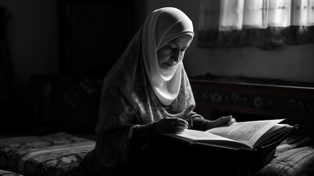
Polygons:
<instances>
[{"instance_id":1,"label":"bright sheer curtain with dark lower edge at upper right","mask_svg":"<svg viewBox=\"0 0 314 176\"><path fill-rule=\"evenodd\" d=\"M314 0L201 0L198 47L314 44Z\"/></svg>"}]
</instances>

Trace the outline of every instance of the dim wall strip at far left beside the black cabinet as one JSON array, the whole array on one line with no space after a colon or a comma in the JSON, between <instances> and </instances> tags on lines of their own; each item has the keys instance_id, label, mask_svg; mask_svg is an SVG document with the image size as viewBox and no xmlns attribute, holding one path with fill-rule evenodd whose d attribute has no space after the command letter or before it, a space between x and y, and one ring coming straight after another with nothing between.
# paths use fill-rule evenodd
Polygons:
<instances>
[{"instance_id":1,"label":"dim wall strip at far left beside the black cabinet","mask_svg":"<svg viewBox=\"0 0 314 176\"><path fill-rule=\"evenodd\" d=\"M32 131L30 75L57 74L59 64L59 25L57 2L2 0L11 14L2 25L7 53L0 60L1 132ZM6 73L5 73L6 72ZM3 75L11 75L5 79ZM5 125L4 125L5 124Z\"/></svg>"}]
</instances>

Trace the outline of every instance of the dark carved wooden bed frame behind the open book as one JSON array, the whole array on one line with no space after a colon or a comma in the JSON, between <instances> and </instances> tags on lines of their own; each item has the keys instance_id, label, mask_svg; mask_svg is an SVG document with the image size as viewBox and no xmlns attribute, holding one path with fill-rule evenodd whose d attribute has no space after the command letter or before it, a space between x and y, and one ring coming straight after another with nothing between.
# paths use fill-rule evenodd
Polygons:
<instances>
[{"instance_id":1,"label":"dark carved wooden bed frame behind the open book","mask_svg":"<svg viewBox=\"0 0 314 176\"><path fill-rule=\"evenodd\" d=\"M237 121L286 118L301 134L314 134L314 87L190 79L195 111L214 120L233 115Z\"/></svg>"}]
</instances>

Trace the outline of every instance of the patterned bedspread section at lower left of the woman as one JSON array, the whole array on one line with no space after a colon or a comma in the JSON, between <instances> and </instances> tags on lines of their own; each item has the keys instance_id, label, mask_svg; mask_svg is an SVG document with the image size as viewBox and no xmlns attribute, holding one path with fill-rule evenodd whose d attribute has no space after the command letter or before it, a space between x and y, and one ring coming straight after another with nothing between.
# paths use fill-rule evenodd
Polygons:
<instances>
[{"instance_id":1,"label":"patterned bedspread section at lower left of the woman","mask_svg":"<svg viewBox=\"0 0 314 176\"><path fill-rule=\"evenodd\" d=\"M95 141L65 132L0 139L0 169L22 175L83 175L79 163Z\"/></svg>"}]
</instances>

